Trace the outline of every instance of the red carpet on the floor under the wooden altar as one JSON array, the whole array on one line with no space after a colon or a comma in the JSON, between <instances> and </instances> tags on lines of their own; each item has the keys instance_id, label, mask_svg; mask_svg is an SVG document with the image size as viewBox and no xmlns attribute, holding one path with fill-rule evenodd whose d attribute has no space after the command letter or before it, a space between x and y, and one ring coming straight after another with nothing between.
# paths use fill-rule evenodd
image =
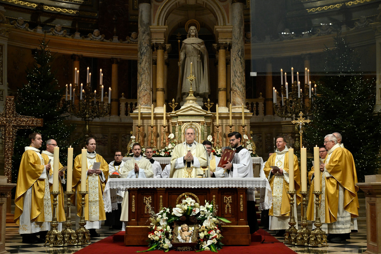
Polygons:
<instances>
[{"instance_id":1,"label":"red carpet on the floor under the wooden altar","mask_svg":"<svg viewBox=\"0 0 381 254\"><path fill-rule=\"evenodd\" d=\"M279 242L274 236L265 232L263 229L259 229L257 231L260 235L266 235L266 242L274 242L274 243L259 243L259 242L251 242L250 246L224 246L221 251L218 253L221 254L231 254L231 253L240 253L240 254L269 254L269 253L282 253L282 254L295 254L295 251L291 251L287 246L283 243ZM96 243L92 243L89 246L75 252L78 254L94 254L94 253L107 253L107 254L120 254L120 253L133 253L136 251L144 251L148 249L147 246L125 246L122 242L113 242L112 236L104 238L101 241ZM171 251L173 253L178 253L175 251ZM152 254L163 254L163 251L150 251L148 253ZM203 252L203 253L211 253L211 252Z\"/></svg>"}]
</instances>

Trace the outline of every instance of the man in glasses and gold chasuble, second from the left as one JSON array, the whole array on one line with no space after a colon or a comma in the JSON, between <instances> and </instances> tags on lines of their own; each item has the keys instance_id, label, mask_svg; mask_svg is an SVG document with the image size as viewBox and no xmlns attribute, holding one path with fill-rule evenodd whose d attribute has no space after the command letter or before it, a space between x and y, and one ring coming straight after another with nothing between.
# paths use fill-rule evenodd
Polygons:
<instances>
[{"instance_id":1,"label":"man in glasses and gold chasuble, second from the left","mask_svg":"<svg viewBox=\"0 0 381 254\"><path fill-rule=\"evenodd\" d=\"M54 139L48 139L46 141L46 150L41 152L41 156L44 161L50 161L51 170L49 171L49 186L50 191L53 191L53 163L54 163L54 147L57 147L57 142ZM64 208L64 189L62 188L62 184L66 183L65 175L64 175L64 166L62 166L61 162L59 162L58 169L58 190L59 194L57 196L57 221L58 221L58 230L62 231L62 222L66 221L65 216L65 208ZM50 195L51 203L53 204L53 195ZM53 205L52 205L53 207Z\"/></svg>"}]
</instances>

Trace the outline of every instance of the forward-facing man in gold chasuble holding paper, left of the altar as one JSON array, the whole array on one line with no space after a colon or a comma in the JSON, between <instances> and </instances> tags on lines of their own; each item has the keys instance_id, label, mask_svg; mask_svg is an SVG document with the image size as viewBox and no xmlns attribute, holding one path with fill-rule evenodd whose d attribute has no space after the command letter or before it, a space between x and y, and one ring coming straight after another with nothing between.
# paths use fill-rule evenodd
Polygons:
<instances>
[{"instance_id":1,"label":"forward-facing man in gold chasuble holding paper, left of the altar","mask_svg":"<svg viewBox=\"0 0 381 254\"><path fill-rule=\"evenodd\" d=\"M79 191L88 192L85 196L85 220L87 220L85 228L90 230L91 237L98 237L100 235L96 229L101 228L102 220L106 219L102 194L109 176L109 165L101 155L95 152L96 142L93 137L86 139L86 148L84 155L77 155L74 159L72 186L77 193L76 196L72 196L72 203L75 205L74 199L76 198L76 227L79 228L78 222L81 216L81 195ZM83 162L82 156L86 156L86 160ZM81 181L82 170L86 171L86 183ZM86 187L83 188L82 184L86 184Z\"/></svg>"}]
</instances>

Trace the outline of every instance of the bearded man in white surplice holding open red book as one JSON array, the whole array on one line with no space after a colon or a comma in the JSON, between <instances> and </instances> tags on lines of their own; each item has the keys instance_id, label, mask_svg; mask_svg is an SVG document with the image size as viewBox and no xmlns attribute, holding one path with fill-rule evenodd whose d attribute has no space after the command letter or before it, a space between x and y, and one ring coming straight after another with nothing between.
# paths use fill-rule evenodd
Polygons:
<instances>
[{"instance_id":1,"label":"bearded man in white surplice holding open red book","mask_svg":"<svg viewBox=\"0 0 381 254\"><path fill-rule=\"evenodd\" d=\"M230 146L235 149L232 163L223 165L229 177L254 177L253 162L249 151L242 147L242 135L233 131L227 135ZM247 224L250 227L250 234L256 232L258 227L257 214L255 211L255 196L253 191L248 191L247 195Z\"/></svg>"}]
</instances>

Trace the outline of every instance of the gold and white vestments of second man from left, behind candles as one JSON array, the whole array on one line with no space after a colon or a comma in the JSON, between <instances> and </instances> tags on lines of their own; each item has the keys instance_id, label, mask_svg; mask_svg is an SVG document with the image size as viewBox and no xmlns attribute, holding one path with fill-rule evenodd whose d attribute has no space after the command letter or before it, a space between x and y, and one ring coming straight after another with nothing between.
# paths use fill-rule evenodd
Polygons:
<instances>
[{"instance_id":1,"label":"gold and white vestments of second man from left, behind candles","mask_svg":"<svg viewBox=\"0 0 381 254\"><path fill-rule=\"evenodd\" d=\"M49 174L50 174L49 189L50 189L50 191L53 191L53 163L54 163L53 153L50 153L50 152L45 150L45 151L41 152L41 156L44 159L44 161L46 161L46 163L48 163L49 160L51 160L50 161L51 169L49 171ZM58 170L61 170L62 168L64 168L64 166L62 166L62 164L60 162ZM58 216L57 221L62 222L62 221L66 221L65 203L64 203L64 199L63 199L64 189L62 188L62 184L66 183L65 173L64 173L62 178L60 176L58 176L58 180L59 180L58 181L59 194L57 196L57 216ZM50 195L50 200L51 200L52 207L53 207L53 195ZM61 224L61 228L62 228L62 224ZM61 230L61 229L59 228L59 230Z\"/></svg>"}]
</instances>

